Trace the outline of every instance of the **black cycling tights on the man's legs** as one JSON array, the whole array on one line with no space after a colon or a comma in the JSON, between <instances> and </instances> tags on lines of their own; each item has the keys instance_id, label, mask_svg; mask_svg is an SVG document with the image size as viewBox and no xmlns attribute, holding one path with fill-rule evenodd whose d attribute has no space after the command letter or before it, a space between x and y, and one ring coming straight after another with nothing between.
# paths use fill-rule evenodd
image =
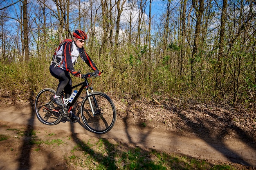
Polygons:
<instances>
[{"instance_id":1,"label":"black cycling tights on the man's legs","mask_svg":"<svg viewBox=\"0 0 256 170\"><path fill-rule=\"evenodd\" d=\"M56 90L56 96L60 96L61 92L64 89L64 92L66 94L65 98L69 98L72 93L72 80L69 72L63 70L62 68L59 68L58 66L54 67L54 65L50 65L50 73L60 82Z\"/></svg>"}]
</instances>

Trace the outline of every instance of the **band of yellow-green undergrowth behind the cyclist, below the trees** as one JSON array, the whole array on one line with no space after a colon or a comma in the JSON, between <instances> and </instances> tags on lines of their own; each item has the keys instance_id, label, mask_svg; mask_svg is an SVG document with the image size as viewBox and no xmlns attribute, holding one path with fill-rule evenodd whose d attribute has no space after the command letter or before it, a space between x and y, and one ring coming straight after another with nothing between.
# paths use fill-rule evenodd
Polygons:
<instances>
[{"instance_id":1,"label":"band of yellow-green undergrowth behind the cyclist, below the trees","mask_svg":"<svg viewBox=\"0 0 256 170\"><path fill-rule=\"evenodd\" d=\"M190 63L184 63L183 71L180 72L180 66L176 62L179 57L177 52L171 51L170 54L162 57L157 55L157 51L152 51L149 56L148 46L126 46L118 47L116 50L109 48L99 55L97 54L99 47L95 45L91 51L88 51L99 70L104 70L101 78L94 81L93 86L96 91L117 98L134 100L142 98L151 100L153 95L157 95L161 98L173 96L204 102L214 100L232 103L233 101L232 87L236 83L235 79L231 74L227 74L220 79L222 86L216 88L216 62L207 62L201 57L195 64L193 82L195 86L192 86ZM30 56L28 62L0 61L0 90L11 92L8 95L15 99L17 95L22 98L22 93L25 92L37 94L40 89L46 87L56 89L58 80L49 72L49 64L52 60L50 53L48 49L44 54ZM243 54L244 58L251 57L250 54ZM238 54L236 56L239 57ZM254 102L253 94L256 89L253 76L255 74L248 69L249 66L250 63L245 63L241 67L243 74L241 73L238 80L240 84L237 86L238 101L246 104ZM92 72L81 59L78 59L75 69L81 70L84 74ZM82 80L72 77L72 81L75 85Z\"/></svg>"}]
</instances>

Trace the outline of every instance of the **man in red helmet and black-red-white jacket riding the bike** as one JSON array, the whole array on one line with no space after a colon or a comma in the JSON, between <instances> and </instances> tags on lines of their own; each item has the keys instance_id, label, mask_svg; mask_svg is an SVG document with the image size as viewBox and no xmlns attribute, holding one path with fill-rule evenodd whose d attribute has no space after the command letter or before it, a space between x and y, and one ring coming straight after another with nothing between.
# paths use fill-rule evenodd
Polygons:
<instances>
[{"instance_id":1,"label":"man in red helmet and black-red-white jacket riding the bike","mask_svg":"<svg viewBox=\"0 0 256 170\"><path fill-rule=\"evenodd\" d=\"M49 68L52 76L59 80L53 100L56 105L61 107L64 106L63 100L60 97L63 89L65 92L65 98L69 98L72 94L72 80L70 73L75 77L81 78L81 74L74 69L74 65L79 56L90 68L92 68L92 70L94 70L95 74L100 74L98 68L95 66L94 62L85 52L83 47L84 42L87 39L86 33L81 30L75 30L73 36L73 40L65 39L62 41L60 48L57 48L53 55L53 61ZM72 113L72 111L70 111L70 113L72 121L79 120L79 117Z\"/></svg>"}]
</instances>

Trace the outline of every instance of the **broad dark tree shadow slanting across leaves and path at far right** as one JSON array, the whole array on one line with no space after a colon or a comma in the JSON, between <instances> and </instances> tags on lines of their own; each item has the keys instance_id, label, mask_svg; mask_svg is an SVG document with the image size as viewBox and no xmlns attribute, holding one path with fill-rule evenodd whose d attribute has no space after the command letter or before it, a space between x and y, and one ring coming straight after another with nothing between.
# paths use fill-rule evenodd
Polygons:
<instances>
[{"instance_id":1,"label":"broad dark tree shadow slanting across leaves and path at far right","mask_svg":"<svg viewBox=\"0 0 256 170\"><path fill-rule=\"evenodd\" d=\"M166 109L172 110L173 108L167 107ZM200 137L202 140L204 140L209 146L217 150L219 153L222 153L227 159L229 159L230 162L233 163L240 163L244 164L246 166L252 166L251 163L243 159L243 156L240 155L240 153L237 153L234 150L231 150L231 148L228 148L225 144L225 137L227 137L228 133L230 131L236 132L236 134L240 137L243 142L250 147L254 152L256 153L256 145L255 140L252 136L250 136L246 131L243 131L238 126L235 126L230 121L232 120L226 120L228 121L229 126L225 126L225 128L222 128L218 130L217 135L215 127L218 127L218 124L213 123L211 120L207 120L205 118L196 117L192 120L187 114L184 114L179 109L173 109L174 112L177 112L178 116L185 122L185 125L190 129L191 133L194 133L196 136ZM200 109L197 109L197 113L202 112L204 114L209 115L210 118L218 119L219 116L211 111L202 111ZM195 112L191 111L191 114L196 114ZM217 123L220 123L220 121L216 121ZM213 131L215 131L213 133ZM241 153L243 151L241 150Z\"/></svg>"}]
</instances>

